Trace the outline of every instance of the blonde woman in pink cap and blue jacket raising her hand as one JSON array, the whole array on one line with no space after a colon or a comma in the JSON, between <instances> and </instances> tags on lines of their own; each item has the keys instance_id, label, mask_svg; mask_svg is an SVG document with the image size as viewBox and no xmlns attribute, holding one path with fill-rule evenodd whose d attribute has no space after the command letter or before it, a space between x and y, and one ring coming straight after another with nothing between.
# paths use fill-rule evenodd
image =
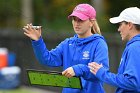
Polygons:
<instances>
[{"instance_id":1,"label":"blonde woman in pink cap and blue jacket raising her hand","mask_svg":"<svg viewBox=\"0 0 140 93\"><path fill-rule=\"evenodd\" d=\"M108 69L108 47L96 21L96 11L89 4L77 5L72 14L74 37L67 38L55 49L48 50L41 36L41 28L27 24L24 34L31 38L34 53L40 63L47 66L63 66L62 75L81 78L82 89L63 88L62 93L105 93L103 82L88 68L89 62L97 62Z\"/></svg>"}]
</instances>

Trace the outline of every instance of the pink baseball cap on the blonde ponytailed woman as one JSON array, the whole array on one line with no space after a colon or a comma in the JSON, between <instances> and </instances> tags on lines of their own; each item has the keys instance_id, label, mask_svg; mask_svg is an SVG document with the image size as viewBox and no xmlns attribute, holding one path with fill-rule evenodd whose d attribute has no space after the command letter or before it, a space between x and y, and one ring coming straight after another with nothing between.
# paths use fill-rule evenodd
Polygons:
<instances>
[{"instance_id":1,"label":"pink baseball cap on the blonde ponytailed woman","mask_svg":"<svg viewBox=\"0 0 140 93\"><path fill-rule=\"evenodd\" d=\"M79 4L74 8L68 18L72 16L76 16L81 20L96 19L96 10L89 4Z\"/></svg>"}]
</instances>

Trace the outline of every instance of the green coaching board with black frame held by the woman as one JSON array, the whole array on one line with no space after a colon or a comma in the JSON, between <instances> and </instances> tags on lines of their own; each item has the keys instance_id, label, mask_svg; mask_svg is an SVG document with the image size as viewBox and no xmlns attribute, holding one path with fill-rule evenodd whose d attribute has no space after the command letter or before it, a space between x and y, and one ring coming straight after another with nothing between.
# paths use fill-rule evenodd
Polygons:
<instances>
[{"instance_id":1,"label":"green coaching board with black frame held by the woman","mask_svg":"<svg viewBox=\"0 0 140 93\"><path fill-rule=\"evenodd\" d=\"M27 70L29 82L31 85L55 86L81 89L81 80L79 77L67 78L59 72Z\"/></svg>"}]
</instances>

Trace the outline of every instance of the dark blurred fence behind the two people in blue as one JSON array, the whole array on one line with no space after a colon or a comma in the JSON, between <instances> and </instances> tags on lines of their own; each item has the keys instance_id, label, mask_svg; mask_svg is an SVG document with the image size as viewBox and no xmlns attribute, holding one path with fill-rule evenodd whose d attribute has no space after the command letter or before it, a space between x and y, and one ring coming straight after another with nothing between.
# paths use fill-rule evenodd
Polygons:
<instances>
[{"instance_id":1,"label":"dark blurred fence behind the two people in blue","mask_svg":"<svg viewBox=\"0 0 140 93\"><path fill-rule=\"evenodd\" d=\"M16 53L16 65L19 66L22 70L21 73L22 85L29 86L26 69L39 69L39 70L49 69L49 70L62 71L61 67L51 68L39 64L34 56L30 39L25 37L23 33L21 33L20 31L17 31L16 34L13 32L15 31L9 31L9 30L0 31L0 47L6 47L8 48L9 52ZM72 33L71 34L70 33L47 33L46 35L43 35L43 38L47 44L47 48L52 49L55 48L65 38L71 36L73 36ZM121 42L121 38L119 34L108 33L108 34L103 34L103 36L106 38L109 47L110 71L116 73L119 66L124 44ZM58 93L60 93L61 91L61 88L58 87L40 86L40 88L49 89L52 91L58 91ZM107 84L105 84L105 89L107 93L113 93L115 91L114 87Z\"/></svg>"}]
</instances>

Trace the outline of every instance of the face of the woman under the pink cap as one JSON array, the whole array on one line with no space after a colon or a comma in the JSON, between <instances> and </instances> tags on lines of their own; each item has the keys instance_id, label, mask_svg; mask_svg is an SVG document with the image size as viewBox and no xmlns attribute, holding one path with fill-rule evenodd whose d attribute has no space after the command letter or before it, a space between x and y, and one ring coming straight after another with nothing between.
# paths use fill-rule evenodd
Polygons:
<instances>
[{"instance_id":1,"label":"face of the woman under the pink cap","mask_svg":"<svg viewBox=\"0 0 140 93\"><path fill-rule=\"evenodd\" d=\"M85 38L90 36L92 22L88 20L81 20L78 17L72 17L72 24L75 33L78 35L79 38Z\"/></svg>"}]
</instances>

